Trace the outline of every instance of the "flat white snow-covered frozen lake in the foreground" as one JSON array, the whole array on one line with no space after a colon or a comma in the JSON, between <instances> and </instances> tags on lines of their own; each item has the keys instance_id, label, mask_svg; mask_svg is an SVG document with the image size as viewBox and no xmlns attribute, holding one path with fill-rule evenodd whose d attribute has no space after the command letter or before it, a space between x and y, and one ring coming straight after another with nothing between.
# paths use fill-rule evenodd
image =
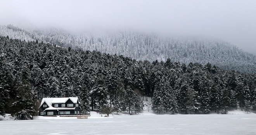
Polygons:
<instances>
[{"instance_id":1,"label":"flat white snow-covered frozen lake in the foreground","mask_svg":"<svg viewBox=\"0 0 256 135\"><path fill-rule=\"evenodd\" d=\"M256 115L126 115L0 121L0 135L256 135Z\"/></svg>"}]
</instances>

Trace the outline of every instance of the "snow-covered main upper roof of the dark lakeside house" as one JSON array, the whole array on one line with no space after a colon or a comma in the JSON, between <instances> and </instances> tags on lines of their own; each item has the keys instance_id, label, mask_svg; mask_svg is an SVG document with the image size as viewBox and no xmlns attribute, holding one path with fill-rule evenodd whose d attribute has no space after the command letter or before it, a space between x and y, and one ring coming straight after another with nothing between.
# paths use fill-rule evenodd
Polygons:
<instances>
[{"instance_id":1,"label":"snow-covered main upper roof of the dark lakeside house","mask_svg":"<svg viewBox=\"0 0 256 135\"><path fill-rule=\"evenodd\" d=\"M69 98L43 98L41 107L43 103L45 102L49 107L52 107L52 103L66 103L66 101L70 99L73 103L77 103L78 98L77 97L69 97Z\"/></svg>"}]
</instances>

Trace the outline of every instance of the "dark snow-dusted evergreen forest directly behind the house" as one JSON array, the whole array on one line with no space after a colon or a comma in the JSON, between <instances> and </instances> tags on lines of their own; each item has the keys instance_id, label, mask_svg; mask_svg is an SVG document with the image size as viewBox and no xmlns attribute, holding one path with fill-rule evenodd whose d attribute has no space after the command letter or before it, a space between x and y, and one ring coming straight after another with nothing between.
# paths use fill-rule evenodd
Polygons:
<instances>
[{"instance_id":1,"label":"dark snow-dusted evergreen forest directly behind the house","mask_svg":"<svg viewBox=\"0 0 256 135\"><path fill-rule=\"evenodd\" d=\"M0 37L0 113L17 119L37 115L45 97L77 96L82 110L112 106L143 110L152 97L157 113L227 113L256 109L256 76L210 63L136 61L122 55L63 48Z\"/></svg>"}]
</instances>

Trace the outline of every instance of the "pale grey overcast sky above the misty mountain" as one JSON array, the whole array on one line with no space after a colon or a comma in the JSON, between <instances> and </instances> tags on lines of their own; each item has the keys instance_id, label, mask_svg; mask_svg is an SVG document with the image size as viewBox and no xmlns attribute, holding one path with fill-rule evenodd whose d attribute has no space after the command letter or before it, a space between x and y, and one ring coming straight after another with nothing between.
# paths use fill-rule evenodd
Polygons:
<instances>
[{"instance_id":1,"label":"pale grey overcast sky above the misty mountain","mask_svg":"<svg viewBox=\"0 0 256 135\"><path fill-rule=\"evenodd\" d=\"M256 0L0 0L0 25L199 35L256 54Z\"/></svg>"}]
</instances>

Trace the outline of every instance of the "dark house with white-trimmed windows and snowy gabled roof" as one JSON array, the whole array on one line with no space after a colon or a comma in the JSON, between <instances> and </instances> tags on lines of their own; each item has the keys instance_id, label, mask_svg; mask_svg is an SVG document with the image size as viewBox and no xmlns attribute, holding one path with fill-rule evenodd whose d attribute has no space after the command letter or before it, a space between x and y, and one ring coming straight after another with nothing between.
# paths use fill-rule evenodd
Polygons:
<instances>
[{"instance_id":1,"label":"dark house with white-trimmed windows and snowy gabled roof","mask_svg":"<svg viewBox=\"0 0 256 135\"><path fill-rule=\"evenodd\" d=\"M39 116L80 114L79 101L76 97L43 98L39 110Z\"/></svg>"}]
</instances>

